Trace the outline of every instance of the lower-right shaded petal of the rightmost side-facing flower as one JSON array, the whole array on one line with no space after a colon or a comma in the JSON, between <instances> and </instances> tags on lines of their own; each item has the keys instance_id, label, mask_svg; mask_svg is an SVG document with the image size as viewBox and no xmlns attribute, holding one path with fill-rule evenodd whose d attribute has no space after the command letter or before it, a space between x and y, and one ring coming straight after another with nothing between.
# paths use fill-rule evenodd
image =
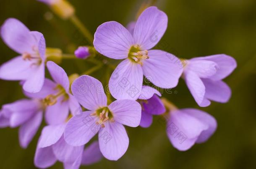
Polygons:
<instances>
[{"instance_id":1,"label":"lower-right shaded petal of the rightmost side-facing flower","mask_svg":"<svg viewBox=\"0 0 256 169\"><path fill-rule=\"evenodd\" d=\"M220 103L227 103L231 97L231 89L223 81L212 81L211 79L202 79L205 86L206 98Z\"/></svg>"}]
</instances>

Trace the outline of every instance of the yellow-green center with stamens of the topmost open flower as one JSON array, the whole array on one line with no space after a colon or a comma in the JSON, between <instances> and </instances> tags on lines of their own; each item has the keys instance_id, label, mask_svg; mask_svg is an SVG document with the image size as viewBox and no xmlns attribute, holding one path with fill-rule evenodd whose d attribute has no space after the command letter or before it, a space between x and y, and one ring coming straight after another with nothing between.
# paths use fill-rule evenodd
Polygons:
<instances>
[{"instance_id":1,"label":"yellow-green center with stamens of the topmost open flower","mask_svg":"<svg viewBox=\"0 0 256 169\"><path fill-rule=\"evenodd\" d=\"M142 66L142 64L143 64L142 61L145 59L149 59L148 51L141 50L139 48L139 45L133 45L129 51L128 58L131 61L138 63Z\"/></svg>"}]
</instances>

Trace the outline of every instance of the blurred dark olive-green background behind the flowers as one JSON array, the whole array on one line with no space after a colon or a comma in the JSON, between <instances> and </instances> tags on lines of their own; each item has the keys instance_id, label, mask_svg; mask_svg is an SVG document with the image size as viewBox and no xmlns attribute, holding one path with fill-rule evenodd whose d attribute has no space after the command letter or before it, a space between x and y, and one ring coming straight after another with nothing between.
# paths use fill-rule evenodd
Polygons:
<instances>
[{"instance_id":1,"label":"blurred dark olive-green background behind the flowers","mask_svg":"<svg viewBox=\"0 0 256 169\"><path fill-rule=\"evenodd\" d=\"M127 25L135 20L141 0L70 0L76 15L94 33L97 26L110 20ZM158 8L168 15L168 28L157 46L181 58L225 53L238 62L225 81L232 88L229 103L212 102L201 108L218 121L216 133L204 144L180 152L172 147L165 123L154 118L148 129L126 127L128 151L118 161L103 159L87 169L255 169L256 168L256 1L255 0L158 0ZM44 34L48 47L72 53L84 38L69 20L54 15L46 20L47 5L36 0L1 0L0 24L18 18L30 30ZM17 54L0 40L0 64ZM91 65L86 61L63 61L71 73L82 73ZM103 71L95 76L104 81ZM198 108L183 80L164 94L179 108ZM177 92L177 93L176 93ZM176 93L176 94L175 94ZM24 98L18 82L0 80L0 106ZM37 139L27 149L18 144L18 129L0 129L0 169L33 169ZM61 163L51 169L62 168Z\"/></svg>"}]
</instances>

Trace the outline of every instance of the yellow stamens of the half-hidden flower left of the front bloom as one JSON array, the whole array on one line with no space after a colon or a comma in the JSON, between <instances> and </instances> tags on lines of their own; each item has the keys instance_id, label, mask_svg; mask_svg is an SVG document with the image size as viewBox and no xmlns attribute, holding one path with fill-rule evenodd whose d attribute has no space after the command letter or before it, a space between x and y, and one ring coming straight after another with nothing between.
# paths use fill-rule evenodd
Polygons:
<instances>
[{"instance_id":1,"label":"yellow stamens of the half-hidden flower left of the front bloom","mask_svg":"<svg viewBox=\"0 0 256 169\"><path fill-rule=\"evenodd\" d=\"M52 106L57 103L57 98L63 96L62 102L68 100L68 94L66 93L65 89L61 85L57 85L54 90L58 91L57 94L49 94L43 99L43 102L46 106Z\"/></svg>"}]
</instances>

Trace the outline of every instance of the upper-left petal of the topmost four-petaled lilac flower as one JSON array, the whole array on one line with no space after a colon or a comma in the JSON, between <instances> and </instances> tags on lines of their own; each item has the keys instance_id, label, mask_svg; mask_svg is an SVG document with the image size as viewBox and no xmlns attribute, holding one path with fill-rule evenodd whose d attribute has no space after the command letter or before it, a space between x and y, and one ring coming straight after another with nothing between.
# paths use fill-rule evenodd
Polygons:
<instances>
[{"instance_id":1,"label":"upper-left petal of the topmost four-petaled lilac flower","mask_svg":"<svg viewBox=\"0 0 256 169\"><path fill-rule=\"evenodd\" d=\"M127 58L131 46L134 45L131 33L115 21L99 25L93 44L99 53L112 59Z\"/></svg>"}]
</instances>

